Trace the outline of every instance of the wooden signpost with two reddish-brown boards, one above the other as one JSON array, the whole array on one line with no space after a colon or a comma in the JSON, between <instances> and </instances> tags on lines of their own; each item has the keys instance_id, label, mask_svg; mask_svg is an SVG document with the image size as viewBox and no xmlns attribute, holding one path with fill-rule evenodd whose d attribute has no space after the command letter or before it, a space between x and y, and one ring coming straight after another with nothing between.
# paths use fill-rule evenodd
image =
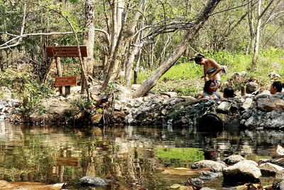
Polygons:
<instances>
[{"instance_id":1,"label":"wooden signpost with two reddish-brown boards, one above the other","mask_svg":"<svg viewBox=\"0 0 284 190\"><path fill-rule=\"evenodd\" d=\"M60 88L62 94L62 86L65 86L65 96L70 95L71 85L77 85L76 76L62 77L60 57L79 57L77 46L48 46L46 47L48 57L55 57L56 65L58 68L58 77L55 78L55 86ZM87 46L80 46L80 53L82 57L87 57Z\"/></svg>"}]
</instances>

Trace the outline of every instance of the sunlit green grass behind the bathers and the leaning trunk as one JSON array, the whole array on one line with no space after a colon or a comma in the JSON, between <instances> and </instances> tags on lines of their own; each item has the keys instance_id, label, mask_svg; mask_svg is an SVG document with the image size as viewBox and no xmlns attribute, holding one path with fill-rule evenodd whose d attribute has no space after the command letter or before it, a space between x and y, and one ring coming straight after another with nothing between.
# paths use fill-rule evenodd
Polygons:
<instances>
[{"instance_id":1,"label":"sunlit green grass behind the bathers and the leaning trunk","mask_svg":"<svg viewBox=\"0 0 284 190\"><path fill-rule=\"evenodd\" d=\"M206 58L213 58L220 65L226 65L227 74L222 74L222 81L230 80L229 78L236 72L246 71L251 78L258 80L258 83L265 88L271 84L269 73L275 71L279 75L284 75L284 50L261 49L258 56L258 63L254 70L248 71L251 67L253 56L245 53L230 54L227 51L218 51L207 53ZM138 83L143 83L154 71L145 71L138 75ZM204 80L202 79L203 67L195 64L185 57L181 57L172 68L170 68L152 89L154 91L171 91L178 95L191 95L197 97L202 90ZM188 83L187 83L188 82ZM177 84L174 84L177 83Z\"/></svg>"}]
</instances>

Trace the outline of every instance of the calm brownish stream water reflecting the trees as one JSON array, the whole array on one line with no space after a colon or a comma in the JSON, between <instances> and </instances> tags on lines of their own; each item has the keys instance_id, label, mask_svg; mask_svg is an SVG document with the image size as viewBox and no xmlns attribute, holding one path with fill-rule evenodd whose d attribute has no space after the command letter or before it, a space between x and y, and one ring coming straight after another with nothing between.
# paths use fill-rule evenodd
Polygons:
<instances>
[{"instance_id":1,"label":"calm brownish stream water reflecting the trees","mask_svg":"<svg viewBox=\"0 0 284 190\"><path fill-rule=\"evenodd\" d=\"M163 174L165 168L190 168L197 160L222 160L231 154L277 158L275 150L278 144L283 145L283 136L278 131L197 132L194 127L0 122L0 180L64 182L65 189L82 189L75 181L97 176L111 179L99 189L170 189L196 176ZM272 183L269 177L261 180ZM205 181L204 186L222 189L222 178Z\"/></svg>"}]
</instances>

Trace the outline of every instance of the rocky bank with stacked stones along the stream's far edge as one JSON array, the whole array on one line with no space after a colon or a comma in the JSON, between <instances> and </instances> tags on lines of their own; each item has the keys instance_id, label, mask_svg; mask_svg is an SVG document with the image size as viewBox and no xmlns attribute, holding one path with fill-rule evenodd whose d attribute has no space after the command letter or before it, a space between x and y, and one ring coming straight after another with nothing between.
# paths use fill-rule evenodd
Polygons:
<instances>
[{"instance_id":1,"label":"rocky bank with stacked stones along the stream's far edge","mask_svg":"<svg viewBox=\"0 0 284 190\"><path fill-rule=\"evenodd\" d=\"M80 88L72 88L68 97L57 95L40 102L38 108L25 110L21 101L1 100L0 120L33 124L64 123L70 117L74 101L85 98ZM92 99L102 112L89 115L91 125L195 125L200 127L246 127L273 129L284 127L284 93L270 95L247 94L229 99L205 100L180 97L176 93L149 93L144 97L131 97L131 90L118 87L115 93L99 96L93 89ZM77 117L86 122L86 117Z\"/></svg>"}]
</instances>

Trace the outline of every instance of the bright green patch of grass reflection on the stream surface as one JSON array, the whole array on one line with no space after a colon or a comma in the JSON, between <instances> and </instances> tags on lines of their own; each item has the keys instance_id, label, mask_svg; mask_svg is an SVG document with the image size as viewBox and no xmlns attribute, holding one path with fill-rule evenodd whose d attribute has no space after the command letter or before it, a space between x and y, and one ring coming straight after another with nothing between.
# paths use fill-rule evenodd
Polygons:
<instances>
[{"instance_id":1,"label":"bright green patch of grass reflection on the stream surface","mask_svg":"<svg viewBox=\"0 0 284 190\"><path fill-rule=\"evenodd\" d=\"M197 148L157 148L155 156L161 159L180 159L200 161L204 159L203 152Z\"/></svg>"}]
</instances>

